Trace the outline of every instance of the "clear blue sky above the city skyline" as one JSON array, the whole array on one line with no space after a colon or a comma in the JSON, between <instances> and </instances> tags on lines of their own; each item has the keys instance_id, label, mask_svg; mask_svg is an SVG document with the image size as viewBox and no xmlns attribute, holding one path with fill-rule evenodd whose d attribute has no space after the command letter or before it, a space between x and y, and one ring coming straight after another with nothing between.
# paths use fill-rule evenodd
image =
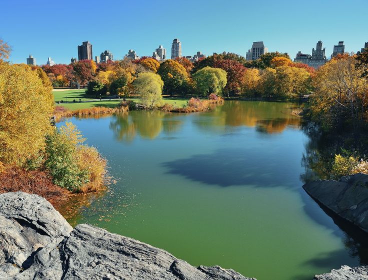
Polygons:
<instances>
[{"instance_id":1,"label":"clear blue sky above the city skyline","mask_svg":"<svg viewBox=\"0 0 368 280\"><path fill-rule=\"evenodd\" d=\"M327 57L339 40L349 52L368 41L368 0L4 0L1 6L0 37L12 45L14 63L30 53L38 64L48 56L70 63L86 40L94 56L109 49L115 59L130 48L152 55L159 44L170 56L176 37L183 55L245 56L253 41L264 41L269 51L292 58L298 50L311 53L319 39Z\"/></svg>"}]
</instances>

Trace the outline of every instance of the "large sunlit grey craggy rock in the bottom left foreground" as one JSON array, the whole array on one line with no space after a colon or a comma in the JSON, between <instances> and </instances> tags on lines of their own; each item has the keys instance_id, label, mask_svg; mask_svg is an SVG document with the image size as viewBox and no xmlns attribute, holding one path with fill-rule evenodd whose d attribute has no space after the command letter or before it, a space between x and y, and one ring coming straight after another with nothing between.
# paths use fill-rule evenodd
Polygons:
<instances>
[{"instance_id":1,"label":"large sunlit grey craggy rock in the bottom left foreground","mask_svg":"<svg viewBox=\"0 0 368 280\"><path fill-rule=\"evenodd\" d=\"M0 195L0 279L246 280L89 224L74 229L44 198Z\"/></svg>"}]
</instances>

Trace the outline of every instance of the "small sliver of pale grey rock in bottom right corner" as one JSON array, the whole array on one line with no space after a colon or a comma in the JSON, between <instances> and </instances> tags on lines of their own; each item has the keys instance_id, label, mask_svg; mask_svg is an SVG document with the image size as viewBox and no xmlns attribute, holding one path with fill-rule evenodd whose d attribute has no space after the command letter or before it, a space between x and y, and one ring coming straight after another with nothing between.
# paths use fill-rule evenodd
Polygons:
<instances>
[{"instance_id":1,"label":"small sliver of pale grey rock in bottom right corner","mask_svg":"<svg viewBox=\"0 0 368 280\"><path fill-rule=\"evenodd\" d=\"M331 272L315 275L313 280L365 280L368 279L368 266L351 268L342 265L340 269L332 269Z\"/></svg>"}]
</instances>

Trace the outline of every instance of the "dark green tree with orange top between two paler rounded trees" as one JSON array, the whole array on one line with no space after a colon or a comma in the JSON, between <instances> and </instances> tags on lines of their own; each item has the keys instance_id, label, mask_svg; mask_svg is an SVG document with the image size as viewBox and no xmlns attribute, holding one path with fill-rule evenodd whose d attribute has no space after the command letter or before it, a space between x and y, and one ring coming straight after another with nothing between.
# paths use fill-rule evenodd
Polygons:
<instances>
[{"instance_id":1,"label":"dark green tree with orange top between two paler rounded trees","mask_svg":"<svg viewBox=\"0 0 368 280\"><path fill-rule=\"evenodd\" d=\"M157 73L164 81L164 92L182 94L188 83L188 73L183 65L175 60L168 59L160 64Z\"/></svg>"}]
</instances>

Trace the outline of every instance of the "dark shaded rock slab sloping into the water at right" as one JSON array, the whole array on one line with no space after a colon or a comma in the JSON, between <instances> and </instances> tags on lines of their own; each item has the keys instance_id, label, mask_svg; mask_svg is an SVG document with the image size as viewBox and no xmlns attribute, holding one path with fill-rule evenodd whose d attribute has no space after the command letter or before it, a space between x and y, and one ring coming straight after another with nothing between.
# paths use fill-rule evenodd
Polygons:
<instances>
[{"instance_id":1,"label":"dark shaded rock slab sloping into the water at right","mask_svg":"<svg viewBox=\"0 0 368 280\"><path fill-rule=\"evenodd\" d=\"M354 174L340 180L316 180L303 185L315 200L368 232L368 175Z\"/></svg>"}]
</instances>

